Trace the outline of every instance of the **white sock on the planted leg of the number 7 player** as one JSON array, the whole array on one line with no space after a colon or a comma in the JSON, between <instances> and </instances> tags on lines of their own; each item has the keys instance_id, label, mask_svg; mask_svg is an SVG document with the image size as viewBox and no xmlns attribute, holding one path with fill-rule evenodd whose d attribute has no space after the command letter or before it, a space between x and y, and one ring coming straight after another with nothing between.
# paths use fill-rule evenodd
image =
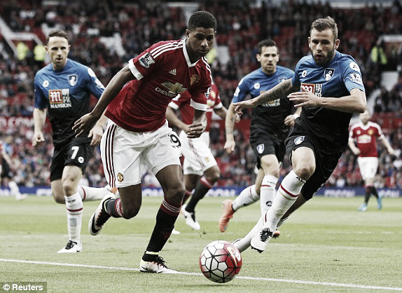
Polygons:
<instances>
[{"instance_id":1,"label":"white sock on the planted leg of the number 7 player","mask_svg":"<svg viewBox=\"0 0 402 293\"><path fill-rule=\"evenodd\" d=\"M72 196L64 196L67 208L67 231L69 240L81 243L81 224L83 221L83 200L74 193Z\"/></svg>"}]
</instances>

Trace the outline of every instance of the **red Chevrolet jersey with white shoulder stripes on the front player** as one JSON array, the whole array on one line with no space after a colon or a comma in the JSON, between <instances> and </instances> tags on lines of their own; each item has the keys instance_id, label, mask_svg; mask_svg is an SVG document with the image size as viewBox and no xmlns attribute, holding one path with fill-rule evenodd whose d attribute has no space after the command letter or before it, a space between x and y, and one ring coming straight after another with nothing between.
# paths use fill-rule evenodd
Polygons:
<instances>
[{"instance_id":1,"label":"red Chevrolet jersey with white shoulder stripes on the front player","mask_svg":"<svg viewBox=\"0 0 402 293\"><path fill-rule=\"evenodd\" d=\"M136 79L120 90L105 112L125 130L148 132L160 128L166 121L169 102L186 90L195 109L207 109L211 68L205 57L190 62L186 40L155 43L130 60L129 67Z\"/></svg>"}]
</instances>

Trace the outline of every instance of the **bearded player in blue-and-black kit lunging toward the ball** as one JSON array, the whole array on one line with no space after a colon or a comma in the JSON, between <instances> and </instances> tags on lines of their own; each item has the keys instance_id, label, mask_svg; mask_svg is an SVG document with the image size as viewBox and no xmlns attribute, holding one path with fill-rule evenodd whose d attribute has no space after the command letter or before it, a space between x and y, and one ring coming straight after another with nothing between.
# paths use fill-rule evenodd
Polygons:
<instances>
[{"instance_id":1,"label":"bearded player in blue-and-black kit lunging toward the ball","mask_svg":"<svg viewBox=\"0 0 402 293\"><path fill-rule=\"evenodd\" d=\"M251 245L263 252L280 226L278 223L310 200L328 180L347 147L352 113L366 109L359 65L350 55L337 51L340 40L333 18L312 22L308 44L312 54L299 60L291 79L254 99L235 104L241 114L244 108L289 95L296 107L303 107L285 141L293 170L282 180L270 210L245 238L235 243L241 251Z\"/></svg>"}]
</instances>

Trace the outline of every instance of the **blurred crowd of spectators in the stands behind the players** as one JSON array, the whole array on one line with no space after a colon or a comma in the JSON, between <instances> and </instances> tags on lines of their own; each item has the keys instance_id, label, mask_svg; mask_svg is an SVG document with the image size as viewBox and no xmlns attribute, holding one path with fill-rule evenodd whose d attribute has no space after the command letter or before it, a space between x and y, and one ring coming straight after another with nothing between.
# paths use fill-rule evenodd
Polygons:
<instances>
[{"instance_id":1,"label":"blurred crowd of spectators in the stands behind the players","mask_svg":"<svg viewBox=\"0 0 402 293\"><path fill-rule=\"evenodd\" d=\"M106 84L132 57L151 44L182 39L189 10L206 10L218 21L216 46L208 60L221 100L228 107L238 81L259 67L256 44L274 39L280 53L279 64L294 69L303 55L310 53L307 36L311 22L331 15L338 23L340 52L352 55L359 64L366 86L368 104L373 118L382 126L395 156L388 156L378 144L380 167L379 187L402 187L402 47L401 41L388 42L392 36L401 37L401 1L389 5L368 4L359 8L342 8L317 1L282 1L261 5L237 1L201 1L174 5L163 1L28 1L11 0L0 6L0 139L11 136L13 169L19 185L49 185L50 158L53 154L51 130L46 132L46 144L34 149L32 111L34 107L34 76L46 62L43 44L50 29L60 28L70 35L69 58L91 67ZM27 35L10 49L9 36ZM385 38L384 36L387 36ZM39 42L36 40L40 40ZM383 86L384 73L397 77L390 86ZM95 104L96 100L92 102ZM356 121L356 119L354 119ZM211 128L211 147L221 167L219 186L247 186L254 182L256 159L248 141L249 115L236 126L236 150L223 151L225 142L223 121L214 121ZM289 172L285 160L281 175ZM85 179L92 186L106 184L99 149L88 164ZM146 184L155 184L150 175ZM363 184L356 157L346 149L328 186L361 186Z\"/></svg>"}]
</instances>

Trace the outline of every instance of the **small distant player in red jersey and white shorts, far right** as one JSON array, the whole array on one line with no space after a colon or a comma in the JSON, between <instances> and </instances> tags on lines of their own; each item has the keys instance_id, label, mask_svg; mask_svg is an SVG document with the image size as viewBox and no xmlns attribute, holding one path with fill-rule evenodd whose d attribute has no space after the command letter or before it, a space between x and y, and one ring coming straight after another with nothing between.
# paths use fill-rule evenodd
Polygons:
<instances>
[{"instance_id":1,"label":"small distant player in red jersey and white shorts, far right","mask_svg":"<svg viewBox=\"0 0 402 293\"><path fill-rule=\"evenodd\" d=\"M359 118L361 122L352 125L349 131L349 147L353 154L359 156L357 163L359 163L361 177L366 187L364 203L360 205L359 211L366 212L371 194L377 198L377 208L381 210L381 196L378 195L374 186L374 177L378 168L377 138L384 144L390 155L394 154L394 149L382 133L380 125L370 121L371 115L368 109L360 114Z\"/></svg>"}]
</instances>

